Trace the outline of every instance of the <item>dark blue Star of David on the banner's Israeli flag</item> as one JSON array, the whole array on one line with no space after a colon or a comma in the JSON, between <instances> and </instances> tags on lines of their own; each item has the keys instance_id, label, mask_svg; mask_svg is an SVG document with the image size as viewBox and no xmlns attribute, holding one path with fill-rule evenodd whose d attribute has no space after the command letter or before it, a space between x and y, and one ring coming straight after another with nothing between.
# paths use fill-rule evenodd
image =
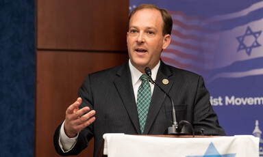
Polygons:
<instances>
[{"instance_id":1,"label":"dark blue Star of David on the banner's Israeli flag","mask_svg":"<svg viewBox=\"0 0 263 157\"><path fill-rule=\"evenodd\" d=\"M247 27L247 30L244 35L236 37L236 40L239 42L238 51L245 50L247 55L251 54L252 48L256 48L258 46L261 46L261 44L258 43L258 37L260 36L262 31L255 31L253 32L250 27ZM246 38L253 37L253 42L251 45L247 45L248 43L244 43L244 40Z\"/></svg>"}]
</instances>

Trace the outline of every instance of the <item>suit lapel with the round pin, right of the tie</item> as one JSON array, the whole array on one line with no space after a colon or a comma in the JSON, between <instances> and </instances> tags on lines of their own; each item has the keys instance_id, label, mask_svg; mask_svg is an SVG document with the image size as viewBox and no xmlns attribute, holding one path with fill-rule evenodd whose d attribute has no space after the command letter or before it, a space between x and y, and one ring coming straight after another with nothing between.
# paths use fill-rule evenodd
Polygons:
<instances>
[{"instance_id":1,"label":"suit lapel with the round pin, right of the tie","mask_svg":"<svg viewBox=\"0 0 263 157\"><path fill-rule=\"evenodd\" d=\"M171 75L172 75L171 71L161 61L160 68L156 76L156 83L158 83L158 85L160 85L160 87L162 87L162 89L164 89L164 91L166 91L167 93L168 91L170 91L171 87L173 86L173 81L169 79L169 76ZM168 84L165 85L164 83L162 83L164 79L167 79L169 81ZM147 122L145 124L145 130L143 134L148 134L166 98L167 96L164 94L164 92L161 91L157 86L155 86L153 89L153 96L151 98L151 104L149 107L149 112L147 115Z\"/></svg>"}]
</instances>

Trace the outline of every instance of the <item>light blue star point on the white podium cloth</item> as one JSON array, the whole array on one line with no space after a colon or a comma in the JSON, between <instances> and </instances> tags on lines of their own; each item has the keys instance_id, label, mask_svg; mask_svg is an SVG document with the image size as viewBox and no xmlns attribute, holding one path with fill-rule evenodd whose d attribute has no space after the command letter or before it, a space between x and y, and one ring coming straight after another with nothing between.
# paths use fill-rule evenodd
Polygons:
<instances>
[{"instance_id":1,"label":"light blue star point on the white podium cloth","mask_svg":"<svg viewBox=\"0 0 263 157\"><path fill-rule=\"evenodd\" d=\"M236 154L219 154L214 144L211 142L203 156L186 156L186 157L234 157Z\"/></svg>"}]
</instances>

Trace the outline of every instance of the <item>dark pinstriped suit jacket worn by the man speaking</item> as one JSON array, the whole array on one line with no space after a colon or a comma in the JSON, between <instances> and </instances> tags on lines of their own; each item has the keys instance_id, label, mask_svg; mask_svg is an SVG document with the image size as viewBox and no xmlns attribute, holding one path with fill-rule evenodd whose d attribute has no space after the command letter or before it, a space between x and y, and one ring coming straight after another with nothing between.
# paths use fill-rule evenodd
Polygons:
<instances>
[{"instance_id":1,"label":"dark pinstriped suit jacket worn by the man speaking","mask_svg":"<svg viewBox=\"0 0 263 157\"><path fill-rule=\"evenodd\" d=\"M164 78L168 79L167 85L162 83ZM203 128L205 135L225 135L225 131L218 124L218 118L212 109L210 96L201 76L168 66L161 61L156 82L173 99L177 122L181 120L190 122L195 134L201 134ZM66 154L63 154L58 145L60 132L58 126L54 135L54 145L59 154L78 154L94 137L95 156L105 133L140 134L128 62L122 66L89 74L79 89L79 96L82 97L81 107L90 106L96 111L96 120L79 133L75 147ZM155 87L143 134L165 134L172 124L171 111L170 100Z\"/></svg>"}]
</instances>

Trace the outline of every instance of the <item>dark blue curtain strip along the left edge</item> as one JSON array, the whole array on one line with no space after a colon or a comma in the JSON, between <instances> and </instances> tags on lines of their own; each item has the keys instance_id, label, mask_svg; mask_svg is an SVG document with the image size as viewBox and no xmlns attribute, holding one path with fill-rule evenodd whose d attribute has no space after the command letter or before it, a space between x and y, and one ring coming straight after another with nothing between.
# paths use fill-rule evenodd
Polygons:
<instances>
[{"instance_id":1,"label":"dark blue curtain strip along the left edge","mask_svg":"<svg viewBox=\"0 0 263 157\"><path fill-rule=\"evenodd\" d=\"M0 1L0 156L34 156L34 1Z\"/></svg>"}]
</instances>

